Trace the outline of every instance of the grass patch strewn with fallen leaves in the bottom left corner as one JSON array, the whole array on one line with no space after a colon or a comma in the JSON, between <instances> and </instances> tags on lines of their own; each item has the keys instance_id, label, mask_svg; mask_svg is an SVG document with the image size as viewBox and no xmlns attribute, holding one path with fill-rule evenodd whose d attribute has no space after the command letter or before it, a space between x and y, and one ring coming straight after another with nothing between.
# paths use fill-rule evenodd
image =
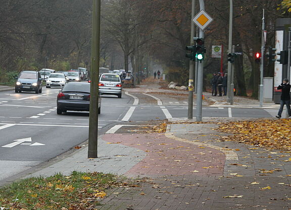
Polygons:
<instances>
[{"instance_id":1,"label":"grass patch strewn with fallen leaves in the bottom left corner","mask_svg":"<svg viewBox=\"0 0 291 210\"><path fill-rule=\"evenodd\" d=\"M103 173L72 172L70 176L28 178L0 189L1 209L95 209L111 187L131 187Z\"/></svg>"}]
</instances>

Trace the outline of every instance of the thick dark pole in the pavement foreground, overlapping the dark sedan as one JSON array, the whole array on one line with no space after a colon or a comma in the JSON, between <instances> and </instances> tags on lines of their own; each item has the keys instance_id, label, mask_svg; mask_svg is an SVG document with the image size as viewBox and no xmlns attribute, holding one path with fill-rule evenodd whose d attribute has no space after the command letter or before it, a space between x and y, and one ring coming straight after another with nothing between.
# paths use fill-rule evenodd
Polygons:
<instances>
[{"instance_id":1,"label":"thick dark pole in the pavement foreground, overlapping the dark sedan","mask_svg":"<svg viewBox=\"0 0 291 210\"><path fill-rule=\"evenodd\" d=\"M97 158L101 0L93 0L88 158Z\"/></svg>"}]
</instances>

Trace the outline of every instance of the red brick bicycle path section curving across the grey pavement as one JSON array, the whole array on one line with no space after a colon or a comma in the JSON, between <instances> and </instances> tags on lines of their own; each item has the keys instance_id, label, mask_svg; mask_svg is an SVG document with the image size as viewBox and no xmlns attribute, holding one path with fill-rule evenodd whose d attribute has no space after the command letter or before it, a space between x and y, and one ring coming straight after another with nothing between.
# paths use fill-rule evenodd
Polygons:
<instances>
[{"instance_id":1,"label":"red brick bicycle path section curving across the grey pavement","mask_svg":"<svg viewBox=\"0 0 291 210\"><path fill-rule=\"evenodd\" d=\"M147 153L146 158L125 174L128 177L223 174L225 155L222 152L178 142L164 133L105 134L102 138L109 144L122 144Z\"/></svg>"}]
</instances>

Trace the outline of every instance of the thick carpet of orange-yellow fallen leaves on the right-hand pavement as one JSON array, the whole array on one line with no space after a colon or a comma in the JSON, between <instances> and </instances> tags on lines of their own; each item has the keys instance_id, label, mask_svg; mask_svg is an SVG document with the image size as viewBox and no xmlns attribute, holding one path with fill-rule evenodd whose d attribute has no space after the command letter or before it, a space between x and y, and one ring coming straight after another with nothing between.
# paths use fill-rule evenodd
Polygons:
<instances>
[{"instance_id":1,"label":"thick carpet of orange-yellow fallen leaves on the right-hand pavement","mask_svg":"<svg viewBox=\"0 0 291 210\"><path fill-rule=\"evenodd\" d=\"M236 141L265 147L291 151L291 120L260 119L255 121L236 121L219 123L219 131L234 135L224 136L225 141Z\"/></svg>"}]
</instances>

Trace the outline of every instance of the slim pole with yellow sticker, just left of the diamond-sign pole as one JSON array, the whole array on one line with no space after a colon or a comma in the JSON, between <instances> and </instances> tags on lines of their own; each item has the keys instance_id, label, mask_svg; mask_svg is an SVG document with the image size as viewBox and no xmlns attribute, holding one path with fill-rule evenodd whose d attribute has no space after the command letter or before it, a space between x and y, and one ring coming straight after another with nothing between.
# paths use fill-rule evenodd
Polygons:
<instances>
[{"instance_id":1,"label":"slim pole with yellow sticker, just left of the diamond-sign pole","mask_svg":"<svg viewBox=\"0 0 291 210\"><path fill-rule=\"evenodd\" d=\"M191 15L191 37L190 37L190 45L194 44L193 37L195 34L195 25L192 19L195 16L195 3L196 0L192 0L192 15ZM193 119L193 88L194 88L194 64L193 60L190 60L189 65L189 95L188 95L188 119Z\"/></svg>"}]
</instances>

